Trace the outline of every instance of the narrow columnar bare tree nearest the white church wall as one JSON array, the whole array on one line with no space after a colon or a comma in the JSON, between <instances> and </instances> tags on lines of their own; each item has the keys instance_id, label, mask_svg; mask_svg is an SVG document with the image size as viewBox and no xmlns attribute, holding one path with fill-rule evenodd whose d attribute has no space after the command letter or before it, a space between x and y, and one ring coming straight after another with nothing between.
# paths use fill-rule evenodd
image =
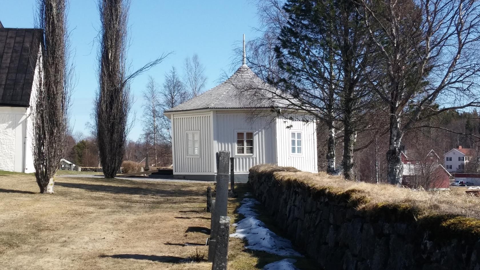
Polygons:
<instances>
[{"instance_id":1,"label":"narrow columnar bare tree nearest the white church wall","mask_svg":"<svg viewBox=\"0 0 480 270\"><path fill-rule=\"evenodd\" d=\"M43 50L33 108L33 155L40 193L53 193L54 176L65 154L72 68L69 66L67 4L38 0Z\"/></svg>"}]
</instances>

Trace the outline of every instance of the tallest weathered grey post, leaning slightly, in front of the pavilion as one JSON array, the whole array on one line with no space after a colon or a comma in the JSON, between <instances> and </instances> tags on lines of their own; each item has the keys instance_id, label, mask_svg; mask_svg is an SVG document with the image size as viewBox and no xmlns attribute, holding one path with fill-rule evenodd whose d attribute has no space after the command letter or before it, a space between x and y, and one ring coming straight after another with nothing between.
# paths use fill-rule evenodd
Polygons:
<instances>
[{"instance_id":1,"label":"tallest weathered grey post, leaning slightly, in front of the pavilion","mask_svg":"<svg viewBox=\"0 0 480 270\"><path fill-rule=\"evenodd\" d=\"M218 172L216 175L215 208L212 211L212 221L210 225L210 241L215 240L214 243L218 243L216 236L218 235L220 216L227 216L229 158L229 151L220 151L218 155ZM209 243L208 261L213 262L215 251L216 246L210 245Z\"/></svg>"}]
</instances>

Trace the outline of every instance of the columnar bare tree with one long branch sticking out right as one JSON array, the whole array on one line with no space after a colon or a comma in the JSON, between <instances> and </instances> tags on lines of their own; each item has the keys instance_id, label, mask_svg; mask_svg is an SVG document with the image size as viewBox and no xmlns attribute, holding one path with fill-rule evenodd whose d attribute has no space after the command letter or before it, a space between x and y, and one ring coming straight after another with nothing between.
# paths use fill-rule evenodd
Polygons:
<instances>
[{"instance_id":1,"label":"columnar bare tree with one long branch sticking out right","mask_svg":"<svg viewBox=\"0 0 480 270\"><path fill-rule=\"evenodd\" d=\"M132 74L126 70L129 0L99 0L99 88L96 95L95 133L105 178L114 178L125 154L132 108L130 81L163 61L162 55Z\"/></svg>"}]
</instances>

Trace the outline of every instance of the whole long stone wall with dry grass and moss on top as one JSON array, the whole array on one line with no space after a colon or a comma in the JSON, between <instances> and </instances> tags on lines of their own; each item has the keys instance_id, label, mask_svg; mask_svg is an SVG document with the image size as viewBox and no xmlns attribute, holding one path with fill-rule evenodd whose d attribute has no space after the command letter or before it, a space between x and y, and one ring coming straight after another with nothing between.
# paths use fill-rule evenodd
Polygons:
<instances>
[{"instance_id":1,"label":"whole long stone wall with dry grass and moss on top","mask_svg":"<svg viewBox=\"0 0 480 270\"><path fill-rule=\"evenodd\" d=\"M480 270L480 199L259 165L249 183L326 270Z\"/></svg>"}]
</instances>

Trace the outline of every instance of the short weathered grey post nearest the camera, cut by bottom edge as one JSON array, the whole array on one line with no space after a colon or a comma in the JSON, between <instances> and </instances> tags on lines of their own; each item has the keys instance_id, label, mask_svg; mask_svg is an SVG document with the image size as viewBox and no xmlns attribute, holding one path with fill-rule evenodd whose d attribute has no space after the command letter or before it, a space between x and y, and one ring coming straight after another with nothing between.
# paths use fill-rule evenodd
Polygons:
<instances>
[{"instance_id":1,"label":"short weathered grey post nearest the camera, cut by bottom edge","mask_svg":"<svg viewBox=\"0 0 480 270\"><path fill-rule=\"evenodd\" d=\"M230 218L221 216L216 236L216 252L212 270L227 270L228 236L230 235Z\"/></svg>"}]
</instances>

